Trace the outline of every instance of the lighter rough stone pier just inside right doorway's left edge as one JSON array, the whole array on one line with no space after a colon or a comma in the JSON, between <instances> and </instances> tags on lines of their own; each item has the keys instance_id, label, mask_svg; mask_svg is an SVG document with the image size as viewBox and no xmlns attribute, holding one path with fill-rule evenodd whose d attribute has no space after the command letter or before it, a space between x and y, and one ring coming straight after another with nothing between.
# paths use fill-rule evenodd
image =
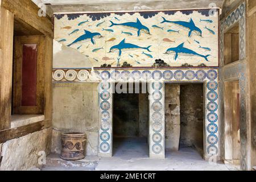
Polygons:
<instances>
[{"instance_id":1,"label":"lighter rough stone pier just inside right doorway's left edge","mask_svg":"<svg viewBox=\"0 0 256 182\"><path fill-rule=\"evenodd\" d=\"M180 85L166 84L166 149L179 150L180 140Z\"/></svg>"}]
</instances>

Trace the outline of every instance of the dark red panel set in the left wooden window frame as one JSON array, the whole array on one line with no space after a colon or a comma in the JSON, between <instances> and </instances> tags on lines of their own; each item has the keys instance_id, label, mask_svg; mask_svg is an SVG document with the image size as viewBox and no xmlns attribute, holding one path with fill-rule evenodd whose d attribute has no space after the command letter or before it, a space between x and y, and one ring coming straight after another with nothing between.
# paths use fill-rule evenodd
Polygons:
<instances>
[{"instance_id":1,"label":"dark red panel set in the left wooden window frame","mask_svg":"<svg viewBox=\"0 0 256 182\"><path fill-rule=\"evenodd\" d=\"M36 106L36 60L37 45L24 44L22 51L21 106Z\"/></svg>"}]
</instances>

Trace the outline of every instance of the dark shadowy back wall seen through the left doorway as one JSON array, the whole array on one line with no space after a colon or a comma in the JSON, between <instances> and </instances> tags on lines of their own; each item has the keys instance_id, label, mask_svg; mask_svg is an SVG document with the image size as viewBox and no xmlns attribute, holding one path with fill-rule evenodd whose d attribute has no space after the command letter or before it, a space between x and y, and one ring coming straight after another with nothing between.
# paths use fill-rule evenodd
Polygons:
<instances>
[{"instance_id":1,"label":"dark shadowy back wall seen through the left doorway","mask_svg":"<svg viewBox=\"0 0 256 182\"><path fill-rule=\"evenodd\" d=\"M114 137L147 137L147 94L114 94Z\"/></svg>"}]
</instances>

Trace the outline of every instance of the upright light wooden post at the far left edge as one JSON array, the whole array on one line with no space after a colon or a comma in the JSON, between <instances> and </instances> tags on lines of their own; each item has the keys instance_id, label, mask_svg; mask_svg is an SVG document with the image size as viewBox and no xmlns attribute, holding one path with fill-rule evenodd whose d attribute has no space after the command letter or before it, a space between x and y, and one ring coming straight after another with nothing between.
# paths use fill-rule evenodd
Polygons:
<instances>
[{"instance_id":1,"label":"upright light wooden post at the far left edge","mask_svg":"<svg viewBox=\"0 0 256 182\"><path fill-rule=\"evenodd\" d=\"M13 75L14 14L1 8L0 27L0 130L11 126L11 87Z\"/></svg>"}]
</instances>

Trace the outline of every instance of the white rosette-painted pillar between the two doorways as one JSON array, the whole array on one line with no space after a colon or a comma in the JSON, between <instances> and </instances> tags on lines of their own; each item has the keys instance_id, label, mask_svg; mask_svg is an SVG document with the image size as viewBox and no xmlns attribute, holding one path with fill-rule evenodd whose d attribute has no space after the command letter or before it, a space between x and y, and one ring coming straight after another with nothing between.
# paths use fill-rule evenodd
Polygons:
<instances>
[{"instance_id":1,"label":"white rosette-painted pillar between the two doorways","mask_svg":"<svg viewBox=\"0 0 256 182\"><path fill-rule=\"evenodd\" d=\"M150 158L164 159L164 83L151 82L150 90Z\"/></svg>"}]
</instances>

